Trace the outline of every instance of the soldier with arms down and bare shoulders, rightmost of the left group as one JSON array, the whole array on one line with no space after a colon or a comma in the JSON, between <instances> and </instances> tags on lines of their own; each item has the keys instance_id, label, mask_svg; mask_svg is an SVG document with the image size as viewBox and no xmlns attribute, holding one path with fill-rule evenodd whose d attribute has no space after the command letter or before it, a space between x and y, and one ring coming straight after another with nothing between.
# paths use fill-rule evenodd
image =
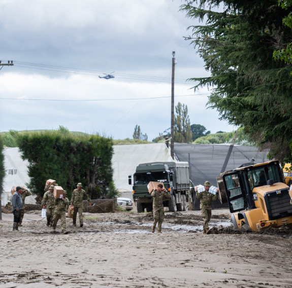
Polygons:
<instances>
[{"instance_id":1,"label":"soldier with arms down and bare shoulders, rightmost of the left group","mask_svg":"<svg viewBox=\"0 0 292 288\"><path fill-rule=\"evenodd\" d=\"M73 190L72 198L71 198L71 206L74 207L73 226L76 226L76 218L77 218L77 212L78 212L80 227L83 227L83 214L82 214L83 200L87 200L90 206L91 206L91 200L88 197L87 193L81 188L82 188L82 184L78 183L77 189Z\"/></svg>"}]
</instances>

